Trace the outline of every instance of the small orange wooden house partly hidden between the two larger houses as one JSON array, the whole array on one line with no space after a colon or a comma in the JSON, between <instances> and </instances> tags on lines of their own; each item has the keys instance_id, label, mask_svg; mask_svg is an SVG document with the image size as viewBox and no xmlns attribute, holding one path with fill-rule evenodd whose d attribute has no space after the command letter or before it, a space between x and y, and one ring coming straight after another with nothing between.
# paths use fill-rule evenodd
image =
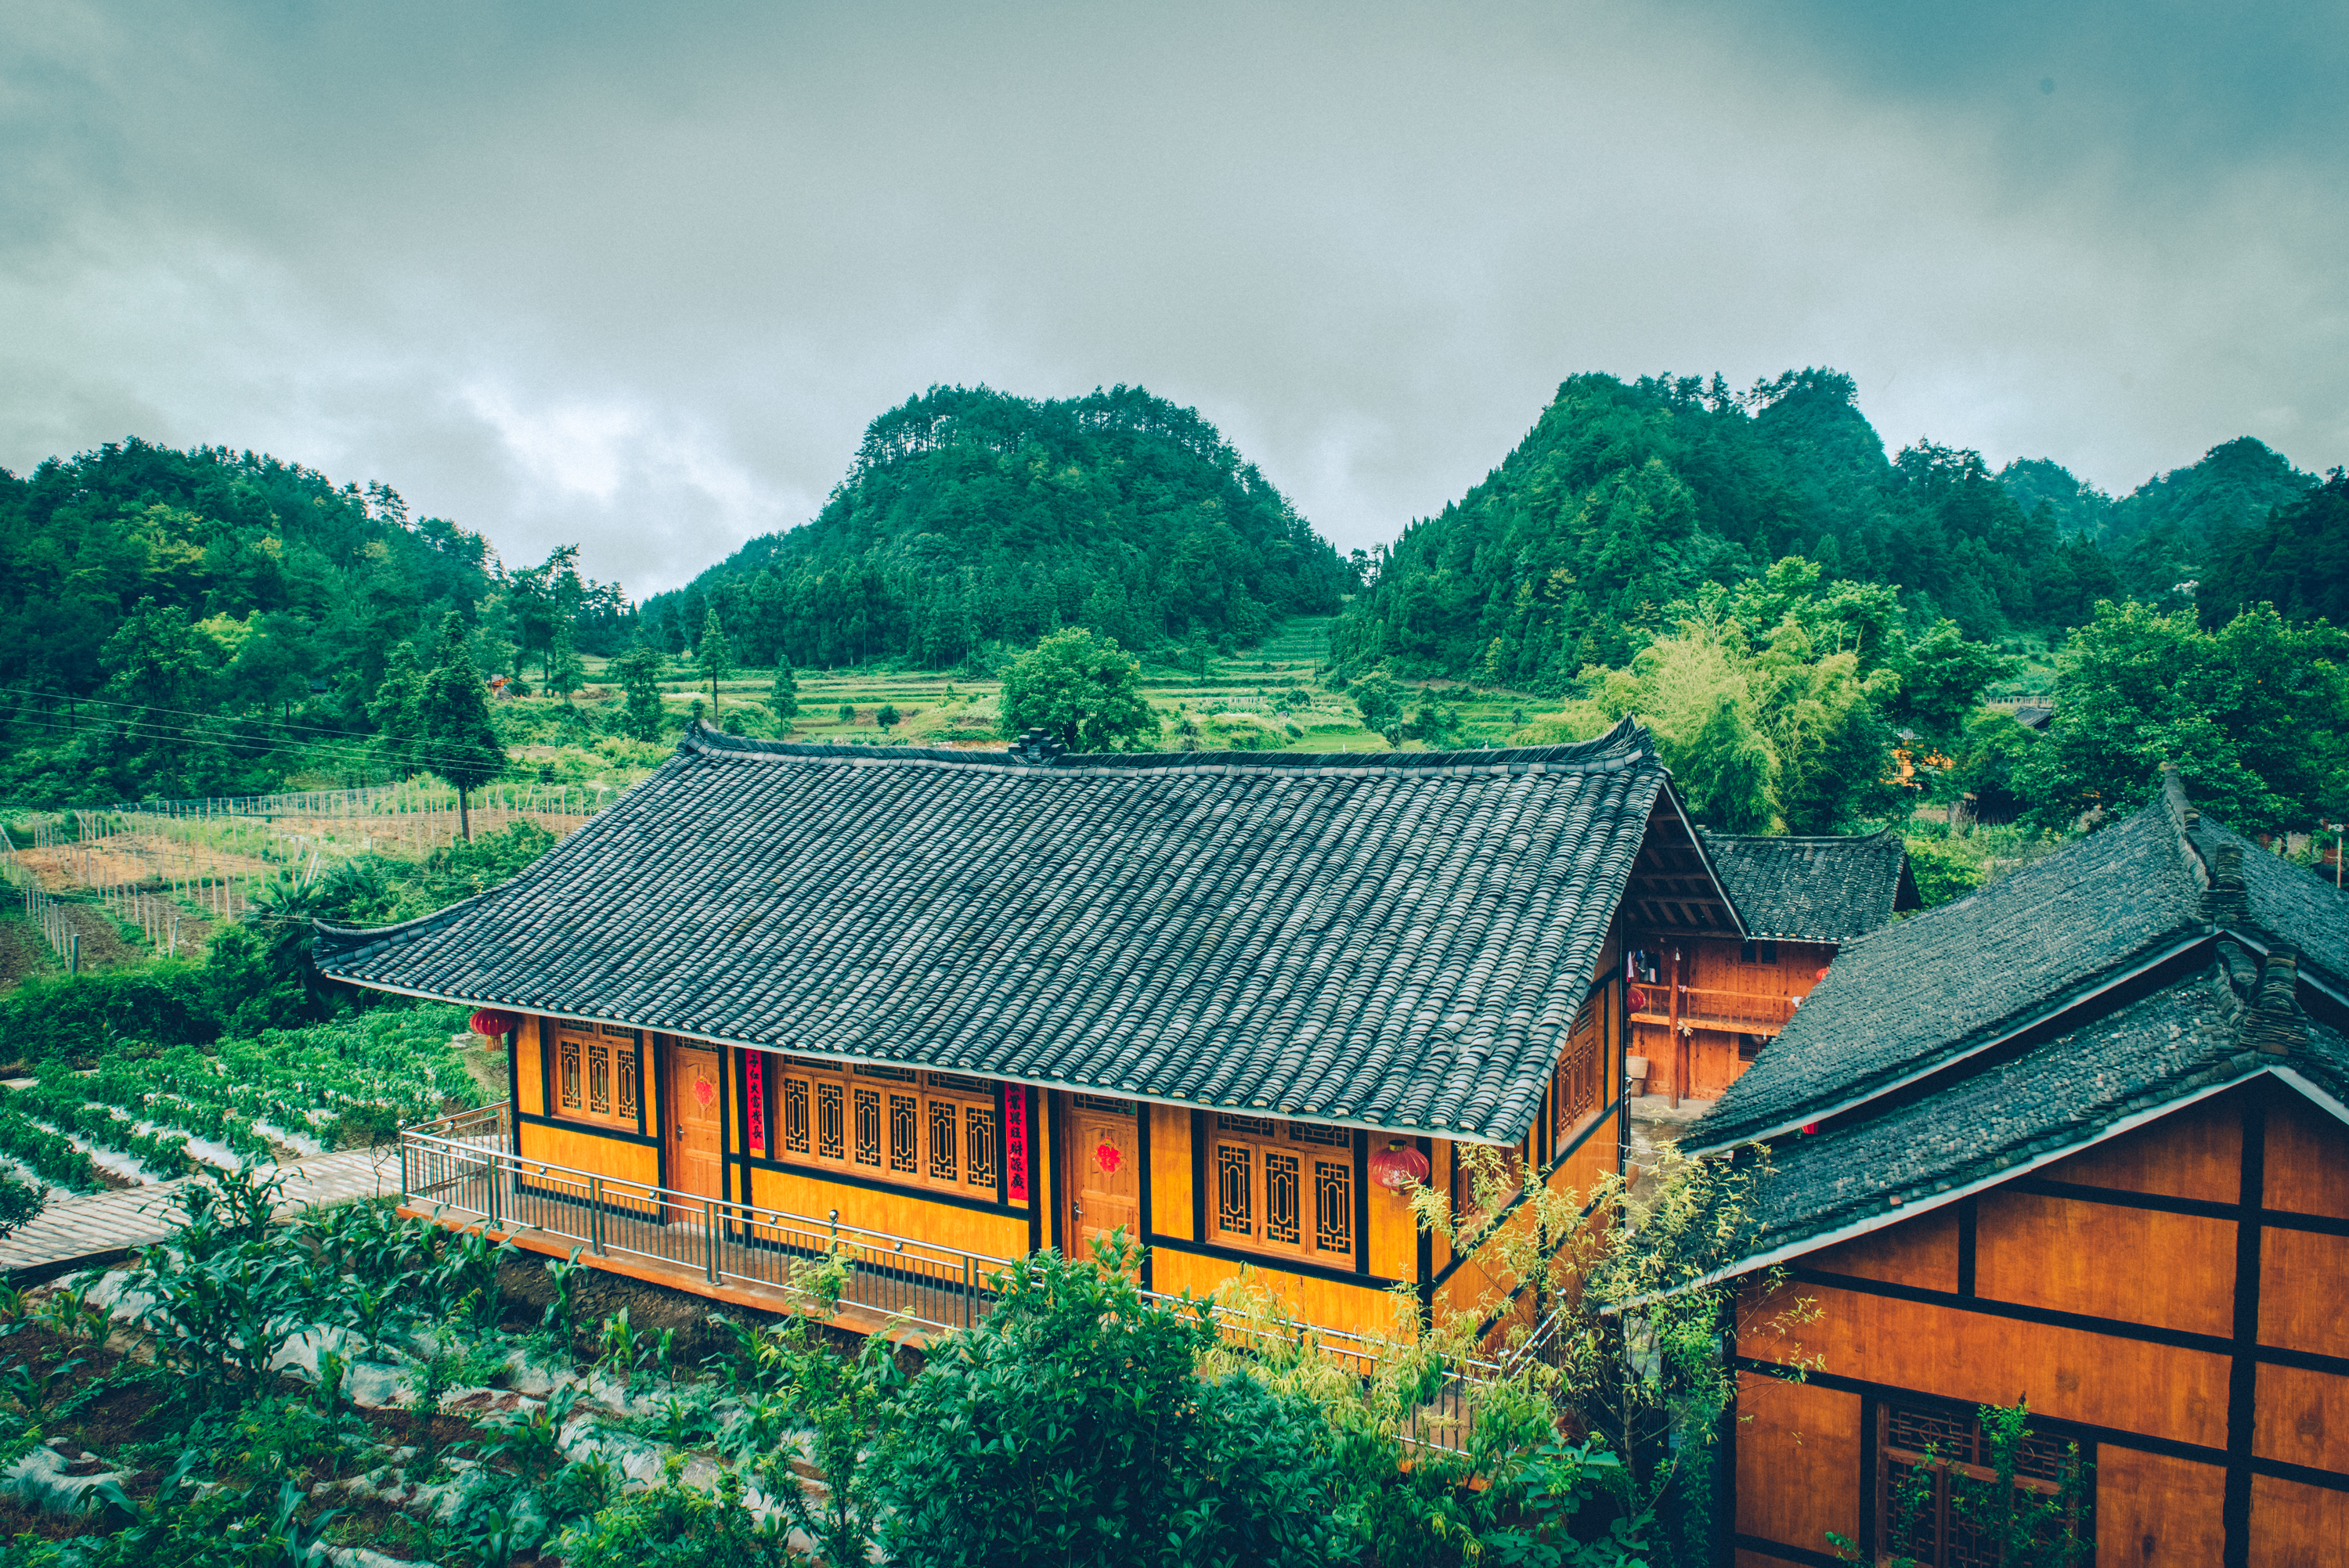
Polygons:
<instances>
[{"instance_id":1,"label":"small orange wooden house partly hidden between the two larger houses","mask_svg":"<svg viewBox=\"0 0 2349 1568\"><path fill-rule=\"evenodd\" d=\"M1626 908L1630 1056L1635 1075L1647 1063L1647 1094L1672 1106L1719 1099L1825 979L1842 944L1919 906L1907 850L1891 829L1863 838L1698 829L1698 840L1743 930L1708 925L1665 897L1663 866L1647 878L1658 892Z\"/></svg>"}]
</instances>

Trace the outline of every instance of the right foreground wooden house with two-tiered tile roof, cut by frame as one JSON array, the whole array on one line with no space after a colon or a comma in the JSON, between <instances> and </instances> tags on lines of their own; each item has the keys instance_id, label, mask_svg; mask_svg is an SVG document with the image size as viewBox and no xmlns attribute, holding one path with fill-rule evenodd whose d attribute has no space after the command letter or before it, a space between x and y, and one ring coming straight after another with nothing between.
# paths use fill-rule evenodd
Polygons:
<instances>
[{"instance_id":1,"label":"right foreground wooden house with two-tiered tile roof, cut by frame","mask_svg":"<svg viewBox=\"0 0 2349 1568\"><path fill-rule=\"evenodd\" d=\"M1769 1145L1736 1345L1734 1556L1978 1563L1952 1476L2027 1399L2095 1561L2349 1547L2349 904L2163 800L1856 941L1689 1136ZM1811 1296L1797 1338L1759 1270ZM1783 1298L1781 1298L1783 1300ZM1903 1512L1907 1481L1926 1502Z\"/></svg>"}]
</instances>

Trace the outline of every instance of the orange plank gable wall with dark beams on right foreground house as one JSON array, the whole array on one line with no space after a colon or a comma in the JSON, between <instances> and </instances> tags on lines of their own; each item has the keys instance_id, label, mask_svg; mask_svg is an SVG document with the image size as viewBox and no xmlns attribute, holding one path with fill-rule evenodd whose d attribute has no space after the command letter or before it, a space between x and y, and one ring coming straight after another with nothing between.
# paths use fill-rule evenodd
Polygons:
<instances>
[{"instance_id":1,"label":"orange plank gable wall with dark beams on right foreground house","mask_svg":"<svg viewBox=\"0 0 2349 1568\"><path fill-rule=\"evenodd\" d=\"M2349 1129L2257 1080L1914 1221L1811 1253L1795 1343L1750 1326L1736 1561L1875 1549L1879 1399L2030 1399L2095 1444L2100 1563L2344 1561ZM1875 1559L1870 1559L1875 1561Z\"/></svg>"}]
</instances>

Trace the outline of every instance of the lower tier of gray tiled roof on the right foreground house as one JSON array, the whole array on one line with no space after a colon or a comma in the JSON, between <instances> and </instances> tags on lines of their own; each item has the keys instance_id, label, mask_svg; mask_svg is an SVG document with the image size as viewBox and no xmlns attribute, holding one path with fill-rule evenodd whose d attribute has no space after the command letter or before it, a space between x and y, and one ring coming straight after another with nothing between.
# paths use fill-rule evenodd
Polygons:
<instances>
[{"instance_id":1,"label":"lower tier of gray tiled roof on the right foreground house","mask_svg":"<svg viewBox=\"0 0 2349 1568\"><path fill-rule=\"evenodd\" d=\"M2241 1016L2213 965L1884 1115L1773 1141L1745 1251L1914 1211L2262 1068L2293 1068L2349 1096L2349 1042L2337 1033L2311 1023L2302 1049L2274 1056L2241 1042Z\"/></svg>"}]
</instances>

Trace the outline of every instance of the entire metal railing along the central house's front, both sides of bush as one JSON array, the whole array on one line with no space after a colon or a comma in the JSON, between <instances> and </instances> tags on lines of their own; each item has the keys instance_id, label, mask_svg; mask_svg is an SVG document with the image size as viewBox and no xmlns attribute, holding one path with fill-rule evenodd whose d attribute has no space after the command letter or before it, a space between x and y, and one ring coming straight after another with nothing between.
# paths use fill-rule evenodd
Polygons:
<instances>
[{"instance_id":1,"label":"entire metal railing along the central house's front, both sides of bush","mask_svg":"<svg viewBox=\"0 0 2349 1568\"><path fill-rule=\"evenodd\" d=\"M707 1284L792 1289L794 1263L839 1258L850 1265L841 1305L918 1329L975 1326L996 1303L991 1277L1010 1268L1010 1258L843 1225L836 1216L817 1221L524 1160L514 1155L505 1106L404 1127L399 1192L409 1207L437 1209L444 1223L536 1230L576 1242L587 1261L667 1263L693 1270ZM1182 1305L1174 1296L1144 1296ZM1257 1312L1219 1300L1210 1312L1236 1350L1266 1359L1318 1352L1358 1378L1372 1378L1409 1350L1407 1343L1297 1322L1278 1307ZM1445 1357L1428 1373L1405 1441L1461 1448L1482 1392L1503 1376L1499 1361Z\"/></svg>"}]
</instances>

